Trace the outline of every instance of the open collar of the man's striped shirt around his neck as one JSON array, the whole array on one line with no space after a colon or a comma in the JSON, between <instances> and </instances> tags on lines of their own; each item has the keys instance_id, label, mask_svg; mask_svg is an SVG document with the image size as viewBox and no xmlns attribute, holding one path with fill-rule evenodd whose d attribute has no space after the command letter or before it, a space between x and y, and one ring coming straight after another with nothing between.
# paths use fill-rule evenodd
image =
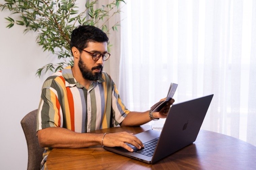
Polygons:
<instances>
[{"instance_id":1,"label":"open collar of the man's striped shirt around his neck","mask_svg":"<svg viewBox=\"0 0 256 170\"><path fill-rule=\"evenodd\" d=\"M82 86L78 81L75 80L72 70L71 70L71 66L64 68L61 72L62 72L62 76L65 79L66 87L76 86L78 88L84 88L84 86ZM93 87L96 87L98 85L98 83L102 83L102 82L104 82L104 79L102 77L100 77L99 80L93 81L92 85L93 85Z\"/></svg>"}]
</instances>

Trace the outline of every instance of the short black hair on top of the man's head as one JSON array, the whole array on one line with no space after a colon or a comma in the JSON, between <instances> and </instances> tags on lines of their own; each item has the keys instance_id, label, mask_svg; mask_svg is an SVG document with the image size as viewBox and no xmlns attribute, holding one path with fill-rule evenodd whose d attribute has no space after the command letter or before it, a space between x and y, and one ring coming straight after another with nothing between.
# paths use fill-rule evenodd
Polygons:
<instances>
[{"instance_id":1,"label":"short black hair on top of the man's head","mask_svg":"<svg viewBox=\"0 0 256 170\"><path fill-rule=\"evenodd\" d=\"M80 52L81 49L87 47L88 42L107 42L107 35L100 29L94 26L78 26L72 31L70 50L72 47L76 47ZM72 53L72 50L71 50ZM73 55L73 53L72 53Z\"/></svg>"}]
</instances>

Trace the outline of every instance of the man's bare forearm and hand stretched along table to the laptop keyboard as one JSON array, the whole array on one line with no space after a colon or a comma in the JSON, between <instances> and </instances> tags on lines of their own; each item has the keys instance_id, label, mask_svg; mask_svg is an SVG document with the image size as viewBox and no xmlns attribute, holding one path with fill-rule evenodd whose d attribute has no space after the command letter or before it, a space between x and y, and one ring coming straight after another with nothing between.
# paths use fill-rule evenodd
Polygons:
<instances>
[{"instance_id":1,"label":"man's bare forearm and hand stretched along table to the laptop keyboard","mask_svg":"<svg viewBox=\"0 0 256 170\"><path fill-rule=\"evenodd\" d=\"M83 148L101 145L103 134L77 133L61 127L49 127L37 131L37 137L41 147ZM127 132L107 133L103 138L105 146L121 146L132 152L132 148L125 143L137 148L143 147L136 136Z\"/></svg>"}]
</instances>

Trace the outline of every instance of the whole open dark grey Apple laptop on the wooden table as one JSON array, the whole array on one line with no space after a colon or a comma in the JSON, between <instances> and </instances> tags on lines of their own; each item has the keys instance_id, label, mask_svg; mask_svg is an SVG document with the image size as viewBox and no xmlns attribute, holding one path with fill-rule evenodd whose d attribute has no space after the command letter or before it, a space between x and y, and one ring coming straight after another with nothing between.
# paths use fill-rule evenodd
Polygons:
<instances>
[{"instance_id":1,"label":"whole open dark grey Apple laptop on the wooden table","mask_svg":"<svg viewBox=\"0 0 256 170\"><path fill-rule=\"evenodd\" d=\"M147 130L135 135L145 146L140 150L130 144L133 152L123 147L104 146L104 149L153 164L196 140L212 98L213 94L172 104L162 131ZM153 147L148 148L150 145Z\"/></svg>"}]
</instances>

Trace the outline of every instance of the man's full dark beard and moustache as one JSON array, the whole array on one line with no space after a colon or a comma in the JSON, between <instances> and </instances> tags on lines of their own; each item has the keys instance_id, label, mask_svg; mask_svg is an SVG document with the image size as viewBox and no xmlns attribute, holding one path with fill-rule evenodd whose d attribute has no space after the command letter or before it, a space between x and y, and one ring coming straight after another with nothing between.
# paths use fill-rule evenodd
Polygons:
<instances>
[{"instance_id":1,"label":"man's full dark beard and moustache","mask_svg":"<svg viewBox=\"0 0 256 170\"><path fill-rule=\"evenodd\" d=\"M84 63L84 61L81 59L79 59L78 61L78 67L83 75L83 78L84 79L87 79L87 80L90 80L90 81L96 81L96 80L99 80L99 78L101 78L102 76L102 69L103 69L103 66L102 65L98 65L96 67L93 67L91 70L86 66L86 64ZM100 72L96 72L96 73L92 73L93 70L95 69L101 69Z\"/></svg>"}]
</instances>

